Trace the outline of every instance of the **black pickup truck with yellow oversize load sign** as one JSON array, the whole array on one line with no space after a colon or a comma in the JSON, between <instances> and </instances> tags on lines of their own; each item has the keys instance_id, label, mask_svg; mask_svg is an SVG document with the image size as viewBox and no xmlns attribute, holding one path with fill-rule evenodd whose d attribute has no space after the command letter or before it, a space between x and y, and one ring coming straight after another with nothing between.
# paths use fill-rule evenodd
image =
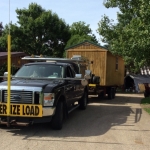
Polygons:
<instances>
[{"instance_id":1,"label":"black pickup truck with yellow oversize load sign","mask_svg":"<svg viewBox=\"0 0 150 150\"><path fill-rule=\"evenodd\" d=\"M0 124L51 122L61 129L70 112L87 106L88 86L81 84L79 73L79 65L67 61L23 65L11 78L9 106L7 81L0 83Z\"/></svg>"}]
</instances>

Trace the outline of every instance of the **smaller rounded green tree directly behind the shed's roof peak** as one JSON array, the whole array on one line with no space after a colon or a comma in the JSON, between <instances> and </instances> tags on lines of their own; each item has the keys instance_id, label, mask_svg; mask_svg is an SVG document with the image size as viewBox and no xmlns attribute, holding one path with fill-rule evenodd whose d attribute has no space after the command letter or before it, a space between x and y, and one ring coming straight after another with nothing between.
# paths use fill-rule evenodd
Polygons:
<instances>
[{"instance_id":1,"label":"smaller rounded green tree directly behind the shed's roof peak","mask_svg":"<svg viewBox=\"0 0 150 150\"><path fill-rule=\"evenodd\" d=\"M71 38L68 40L65 48L83 42L85 40L98 43L96 36L92 33L90 25L86 25L86 23L83 21L74 22L70 26L70 33Z\"/></svg>"}]
</instances>

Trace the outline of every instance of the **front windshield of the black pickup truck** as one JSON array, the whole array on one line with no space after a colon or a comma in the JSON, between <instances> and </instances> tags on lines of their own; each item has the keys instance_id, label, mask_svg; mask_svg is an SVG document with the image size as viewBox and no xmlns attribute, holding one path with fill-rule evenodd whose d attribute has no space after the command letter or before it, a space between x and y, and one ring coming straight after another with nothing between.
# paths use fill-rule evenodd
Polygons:
<instances>
[{"instance_id":1,"label":"front windshield of the black pickup truck","mask_svg":"<svg viewBox=\"0 0 150 150\"><path fill-rule=\"evenodd\" d=\"M15 77L47 77L47 78L62 78L63 67L59 65L34 64L25 65L18 70Z\"/></svg>"}]
</instances>

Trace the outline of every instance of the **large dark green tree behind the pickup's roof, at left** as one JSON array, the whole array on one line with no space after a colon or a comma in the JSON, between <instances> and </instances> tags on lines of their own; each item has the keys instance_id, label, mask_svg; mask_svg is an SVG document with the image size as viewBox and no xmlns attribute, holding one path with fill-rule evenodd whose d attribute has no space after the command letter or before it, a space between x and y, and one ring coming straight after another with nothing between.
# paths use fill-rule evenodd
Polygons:
<instances>
[{"instance_id":1,"label":"large dark green tree behind the pickup's roof, at left","mask_svg":"<svg viewBox=\"0 0 150 150\"><path fill-rule=\"evenodd\" d=\"M16 13L18 24L10 24L12 51L62 57L70 38L69 25L63 19L36 3L29 4L28 9L16 9ZM5 35L1 43L5 43L4 39Z\"/></svg>"}]
</instances>

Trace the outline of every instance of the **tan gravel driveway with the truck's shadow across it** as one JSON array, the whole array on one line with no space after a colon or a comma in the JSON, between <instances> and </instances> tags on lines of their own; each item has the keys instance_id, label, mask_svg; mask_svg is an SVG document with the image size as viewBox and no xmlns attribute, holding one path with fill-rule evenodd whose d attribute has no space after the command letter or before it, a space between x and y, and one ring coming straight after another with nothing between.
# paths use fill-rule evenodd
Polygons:
<instances>
[{"instance_id":1,"label":"tan gravel driveway with the truck's shadow across it","mask_svg":"<svg viewBox=\"0 0 150 150\"><path fill-rule=\"evenodd\" d=\"M75 110L54 131L48 124L1 126L2 150L149 150L150 116L140 94L117 94L113 100L90 98L85 111Z\"/></svg>"}]
</instances>

